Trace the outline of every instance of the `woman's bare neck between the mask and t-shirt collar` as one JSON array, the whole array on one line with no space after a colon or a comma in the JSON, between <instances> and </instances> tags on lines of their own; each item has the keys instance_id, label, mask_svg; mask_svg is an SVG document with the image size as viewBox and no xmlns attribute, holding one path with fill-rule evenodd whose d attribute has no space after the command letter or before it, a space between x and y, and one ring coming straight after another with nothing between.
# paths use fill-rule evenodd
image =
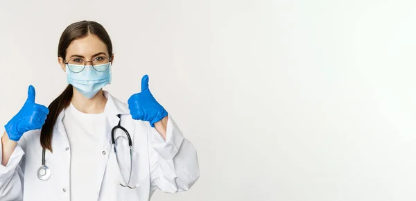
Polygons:
<instances>
[{"instance_id":1,"label":"woman's bare neck between the mask and t-shirt collar","mask_svg":"<svg viewBox=\"0 0 416 201\"><path fill-rule=\"evenodd\" d=\"M83 113L87 114L99 114L104 112L107 98L105 98L103 90L101 89L91 99L86 98L75 87L73 87L73 96L71 99L73 107Z\"/></svg>"}]
</instances>

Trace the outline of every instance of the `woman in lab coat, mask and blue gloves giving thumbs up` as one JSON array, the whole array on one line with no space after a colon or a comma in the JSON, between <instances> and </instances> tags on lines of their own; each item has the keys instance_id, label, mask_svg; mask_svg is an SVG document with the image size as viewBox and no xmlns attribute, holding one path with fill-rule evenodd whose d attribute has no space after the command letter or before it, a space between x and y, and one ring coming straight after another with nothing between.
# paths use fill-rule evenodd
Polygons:
<instances>
[{"instance_id":1,"label":"woman in lab coat, mask and blue gloves giving thumbs up","mask_svg":"<svg viewBox=\"0 0 416 201\"><path fill-rule=\"evenodd\" d=\"M187 191L198 180L196 150L153 98L148 76L128 104L102 90L113 60L100 24L64 30L58 62L69 85L49 107L30 86L5 125L0 200L150 200L155 189Z\"/></svg>"}]
</instances>

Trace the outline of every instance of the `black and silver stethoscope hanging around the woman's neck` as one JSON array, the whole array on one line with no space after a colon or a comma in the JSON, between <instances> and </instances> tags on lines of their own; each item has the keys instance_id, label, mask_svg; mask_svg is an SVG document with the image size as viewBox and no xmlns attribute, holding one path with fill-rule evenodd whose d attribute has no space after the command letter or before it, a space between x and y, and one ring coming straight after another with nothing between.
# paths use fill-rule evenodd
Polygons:
<instances>
[{"instance_id":1,"label":"black and silver stethoscope hanging around the woman's neck","mask_svg":"<svg viewBox=\"0 0 416 201\"><path fill-rule=\"evenodd\" d=\"M133 166L133 151L132 151L132 139L130 137L130 134L128 133L127 130L125 130L125 128L123 128L123 126L121 126L121 114L117 114L117 116L119 117L120 121L119 124L117 124L116 126L114 126L114 128L112 128L111 130L111 142L112 145L114 147L114 154L116 155L116 159L117 159L117 165L119 166L119 171L121 174L121 177L123 178L123 184L120 184L123 187L128 187L130 189L135 189L137 186L130 186L130 179L132 177L132 166ZM116 150L116 140L114 139L114 133L116 131L116 129L121 129L123 130L123 132L125 133L125 135L127 136L128 139L128 147L130 150L130 174L128 176L128 181L125 182L125 177L123 175L123 172L121 171L121 167L120 167L120 162L119 162L119 157L117 156L117 150ZM123 137L125 138L125 137ZM37 177L40 180L46 181L49 180L49 178L51 177L51 169L45 165L45 149L42 148L42 166L40 166L40 168L37 170Z\"/></svg>"}]
</instances>

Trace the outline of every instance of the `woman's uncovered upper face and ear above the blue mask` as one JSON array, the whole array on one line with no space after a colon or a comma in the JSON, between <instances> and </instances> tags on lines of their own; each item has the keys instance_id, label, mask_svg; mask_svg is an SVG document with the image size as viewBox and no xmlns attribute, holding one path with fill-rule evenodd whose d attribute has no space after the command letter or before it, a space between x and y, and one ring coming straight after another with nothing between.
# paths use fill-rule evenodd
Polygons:
<instances>
[{"instance_id":1,"label":"woman's uncovered upper face and ear above the blue mask","mask_svg":"<svg viewBox=\"0 0 416 201\"><path fill-rule=\"evenodd\" d=\"M58 62L62 70L66 71L65 62L98 61L103 58L113 61L114 55L108 55L107 46L96 35L87 35L73 40L67 48L66 58L58 58ZM91 64L92 62L87 62L87 65Z\"/></svg>"}]
</instances>

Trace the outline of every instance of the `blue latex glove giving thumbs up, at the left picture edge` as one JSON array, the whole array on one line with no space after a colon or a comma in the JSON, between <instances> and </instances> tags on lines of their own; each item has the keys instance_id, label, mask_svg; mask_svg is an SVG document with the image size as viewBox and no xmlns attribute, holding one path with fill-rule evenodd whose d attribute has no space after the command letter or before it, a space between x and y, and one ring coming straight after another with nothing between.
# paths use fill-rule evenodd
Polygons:
<instances>
[{"instance_id":1,"label":"blue latex glove giving thumbs up, at the left picture edge","mask_svg":"<svg viewBox=\"0 0 416 201\"><path fill-rule=\"evenodd\" d=\"M28 98L21 110L5 126L9 139L19 141L29 130L41 129L49 114L48 107L35 103L35 87L28 89Z\"/></svg>"}]
</instances>

